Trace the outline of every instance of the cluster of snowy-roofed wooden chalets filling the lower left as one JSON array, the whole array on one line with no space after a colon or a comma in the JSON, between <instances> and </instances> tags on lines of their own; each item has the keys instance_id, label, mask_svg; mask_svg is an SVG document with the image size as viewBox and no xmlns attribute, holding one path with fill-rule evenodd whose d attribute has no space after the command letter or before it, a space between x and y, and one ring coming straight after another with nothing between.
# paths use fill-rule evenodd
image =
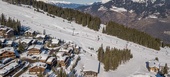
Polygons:
<instances>
[{"instance_id":1,"label":"cluster of snowy-roofed wooden chalets filling the lower left","mask_svg":"<svg viewBox=\"0 0 170 77\"><path fill-rule=\"evenodd\" d=\"M0 77L56 77L67 75L80 60L81 47L72 41L56 39L27 29L14 35L13 29L0 26Z\"/></svg>"}]
</instances>

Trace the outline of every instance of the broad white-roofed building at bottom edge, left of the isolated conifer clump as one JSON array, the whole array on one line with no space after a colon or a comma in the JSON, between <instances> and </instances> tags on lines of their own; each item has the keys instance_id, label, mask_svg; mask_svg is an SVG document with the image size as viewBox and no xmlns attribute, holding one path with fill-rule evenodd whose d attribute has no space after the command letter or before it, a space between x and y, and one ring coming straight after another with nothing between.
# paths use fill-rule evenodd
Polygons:
<instances>
[{"instance_id":1,"label":"broad white-roofed building at bottom edge, left of the isolated conifer clump","mask_svg":"<svg viewBox=\"0 0 170 77\"><path fill-rule=\"evenodd\" d=\"M83 77L97 77L99 73L99 62L88 60L84 63Z\"/></svg>"}]
</instances>

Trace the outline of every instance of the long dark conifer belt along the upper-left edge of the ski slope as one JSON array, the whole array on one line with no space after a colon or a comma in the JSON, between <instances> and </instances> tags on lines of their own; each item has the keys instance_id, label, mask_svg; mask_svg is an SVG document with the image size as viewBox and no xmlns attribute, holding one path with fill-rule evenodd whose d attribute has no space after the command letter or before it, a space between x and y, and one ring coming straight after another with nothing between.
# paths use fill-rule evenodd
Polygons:
<instances>
[{"instance_id":1,"label":"long dark conifer belt along the upper-left edge of the ski slope","mask_svg":"<svg viewBox=\"0 0 170 77\"><path fill-rule=\"evenodd\" d=\"M55 5L47 4L41 1L36 0L5 0L9 3L16 5L30 5L39 10L43 10L48 12L49 14L53 14L58 17L62 17L69 21L75 21L78 24L82 24L83 26L87 26L90 29L98 31L100 28L100 18L93 17L90 14L85 14L77 10L69 9L69 8L61 8Z\"/></svg>"}]
</instances>

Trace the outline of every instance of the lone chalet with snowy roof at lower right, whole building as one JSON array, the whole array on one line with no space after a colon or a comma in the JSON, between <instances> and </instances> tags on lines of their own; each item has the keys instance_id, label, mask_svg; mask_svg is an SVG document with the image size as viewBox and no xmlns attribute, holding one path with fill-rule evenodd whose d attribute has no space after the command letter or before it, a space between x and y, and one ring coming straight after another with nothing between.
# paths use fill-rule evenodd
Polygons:
<instances>
[{"instance_id":1,"label":"lone chalet with snowy roof at lower right, whole building","mask_svg":"<svg viewBox=\"0 0 170 77\"><path fill-rule=\"evenodd\" d=\"M150 60L148 61L148 70L150 72L158 72L159 71L160 63L157 60Z\"/></svg>"}]
</instances>

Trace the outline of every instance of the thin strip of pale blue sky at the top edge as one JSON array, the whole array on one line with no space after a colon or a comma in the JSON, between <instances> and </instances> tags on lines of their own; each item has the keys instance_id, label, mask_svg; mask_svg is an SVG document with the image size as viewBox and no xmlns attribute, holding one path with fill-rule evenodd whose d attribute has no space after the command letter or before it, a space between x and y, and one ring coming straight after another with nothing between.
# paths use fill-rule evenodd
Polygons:
<instances>
[{"instance_id":1,"label":"thin strip of pale blue sky at the top edge","mask_svg":"<svg viewBox=\"0 0 170 77\"><path fill-rule=\"evenodd\" d=\"M87 4L92 2L99 2L101 0L60 0L60 1L67 1L72 3L80 3L80 4Z\"/></svg>"}]
</instances>

